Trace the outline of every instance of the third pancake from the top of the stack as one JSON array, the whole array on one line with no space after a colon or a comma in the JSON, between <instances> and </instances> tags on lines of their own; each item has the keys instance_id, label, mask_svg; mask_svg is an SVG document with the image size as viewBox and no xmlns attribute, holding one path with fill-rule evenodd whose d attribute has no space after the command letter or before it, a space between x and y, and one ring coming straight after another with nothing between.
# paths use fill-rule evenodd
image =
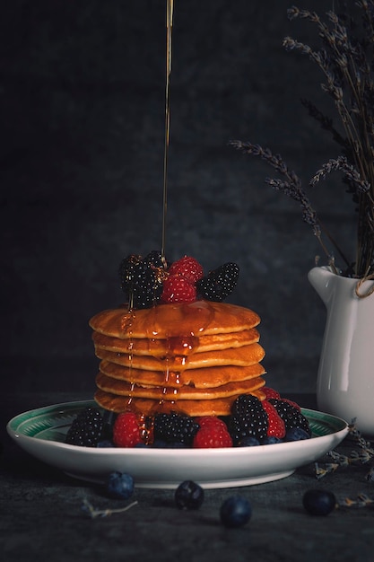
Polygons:
<instances>
[{"instance_id":1,"label":"third pancake from the top of the stack","mask_svg":"<svg viewBox=\"0 0 374 562\"><path fill-rule=\"evenodd\" d=\"M171 356L164 359L151 356L135 356L128 353L114 353L98 347L96 347L95 352L96 356L100 359L105 359L110 363L121 364L132 369L161 371L162 373L221 365L248 366L257 364L265 356L264 348L259 344L222 349L222 351L204 351L191 356Z\"/></svg>"}]
</instances>

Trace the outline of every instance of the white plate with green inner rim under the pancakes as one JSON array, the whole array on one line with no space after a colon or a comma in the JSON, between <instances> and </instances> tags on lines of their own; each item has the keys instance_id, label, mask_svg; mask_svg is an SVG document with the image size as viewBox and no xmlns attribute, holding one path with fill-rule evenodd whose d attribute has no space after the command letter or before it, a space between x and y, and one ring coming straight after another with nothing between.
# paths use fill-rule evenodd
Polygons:
<instances>
[{"instance_id":1,"label":"white plate with green inner rim under the pancakes","mask_svg":"<svg viewBox=\"0 0 374 562\"><path fill-rule=\"evenodd\" d=\"M220 449L95 449L65 444L74 417L92 400L33 409L7 424L8 434L22 449L70 476L102 482L110 472L131 474L137 487L175 488L186 479L205 488L261 484L290 476L317 461L347 435L338 417L302 409L312 437L305 441Z\"/></svg>"}]
</instances>

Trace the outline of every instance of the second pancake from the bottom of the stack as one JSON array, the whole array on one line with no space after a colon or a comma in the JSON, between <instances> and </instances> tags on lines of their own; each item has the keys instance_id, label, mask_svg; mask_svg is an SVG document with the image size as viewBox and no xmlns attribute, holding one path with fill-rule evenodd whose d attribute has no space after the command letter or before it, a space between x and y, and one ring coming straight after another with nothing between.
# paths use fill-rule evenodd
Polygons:
<instances>
[{"instance_id":1,"label":"second pancake from the bottom of the stack","mask_svg":"<svg viewBox=\"0 0 374 562\"><path fill-rule=\"evenodd\" d=\"M215 388L196 389L182 385L178 388L161 386L145 386L113 379L104 373L96 377L96 385L101 391L126 396L128 398L148 398L152 400L216 400L239 394L248 394L264 386L264 379L256 377L248 381L228 382Z\"/></svg>"}]
</instances>

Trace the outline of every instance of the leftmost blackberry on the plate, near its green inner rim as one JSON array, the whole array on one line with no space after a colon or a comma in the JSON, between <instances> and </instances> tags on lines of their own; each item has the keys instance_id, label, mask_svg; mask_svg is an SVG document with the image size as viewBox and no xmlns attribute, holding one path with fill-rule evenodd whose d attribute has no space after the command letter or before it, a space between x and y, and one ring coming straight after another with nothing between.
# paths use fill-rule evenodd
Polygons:
<instances>
[{"instance_id":1,"label":"leftmost blackberry on the plate, near its green inner rim","mask_svg":"<svg viewBox=\"0 0 374 562\"><path fill-rule=\"evenodd\" d=\"M96 447L99 443L103 418L97 408L84 408L77 417L65 437L65 443L81 447Z\"/></svg>"}]
</instances>

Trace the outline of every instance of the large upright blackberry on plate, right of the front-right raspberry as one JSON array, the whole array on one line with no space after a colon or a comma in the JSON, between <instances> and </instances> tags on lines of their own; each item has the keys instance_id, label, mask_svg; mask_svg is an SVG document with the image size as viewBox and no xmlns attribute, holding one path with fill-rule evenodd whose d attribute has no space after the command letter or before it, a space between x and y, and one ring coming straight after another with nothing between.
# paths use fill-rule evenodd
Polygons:
<instances>
[{"instance_id":1,"label":"large upright blackberry on plate, right of the front-right raspberry","mask_svg":"<svg viewBox=\"0 0 374 562\"><path fill-rule=\"evenodd\" d=\"M267 426L261 400L252 394L240 394L231 407L229 431L233 444L240 445L247 437L255 437L261 443L267 435Z\"/></svg>"}]
</instances>

